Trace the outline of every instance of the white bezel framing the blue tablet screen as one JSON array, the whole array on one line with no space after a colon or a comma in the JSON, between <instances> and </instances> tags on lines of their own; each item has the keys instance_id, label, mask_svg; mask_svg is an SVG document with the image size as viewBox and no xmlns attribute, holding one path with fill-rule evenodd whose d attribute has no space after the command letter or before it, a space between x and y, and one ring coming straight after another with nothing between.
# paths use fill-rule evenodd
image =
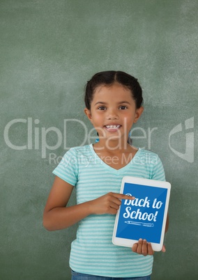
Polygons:
<instances>
[{"instance_id":1,"label":"white bezel framing the blue tablet screen","mask_svg":"<svg viewBox=\"0 0 198 280\"><path fill-rule=\"evenodd\" d=\"M136 185L145 185L148 187L161 187L161 188L167 189L167 198L166 198L164 217L163 217L163 221L162 221L162 231L161 231L161 236L160 236L160 243L151 242L153 251L161 251L163 242L164 242L164 238L165 238L165 226L166 226L166 221L167 221L167 212L168 212L168 208L169 208L169 196L170 196L171 184L166 181L150 180L150 179L137 178L137 177L132 177L132 176L124 176L122 183L121 183L121 191L120 191L121 194L123 194L123 187L125 185L125 182L136 184ZM119 245L119 246L123 246L123 247L132 247L132 245L137 243L138 240L131 240L131 239L126 239L126 238L117 238L116 237L116 231L117 231L117 226L118 226L118 221L119 221L119 213L120 213L120 210L118 210L118 212L116 214L112 242L115 245ZM149 240L147 240L147 241L149 242Z\"/></svg>"}]
</instances>

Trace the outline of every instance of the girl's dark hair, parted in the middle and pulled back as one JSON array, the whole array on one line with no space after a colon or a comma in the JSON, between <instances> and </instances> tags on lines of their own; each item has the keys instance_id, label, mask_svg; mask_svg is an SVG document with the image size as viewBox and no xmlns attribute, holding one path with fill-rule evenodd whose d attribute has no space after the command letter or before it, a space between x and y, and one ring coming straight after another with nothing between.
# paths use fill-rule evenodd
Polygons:
<instances>
[{"instance_id":1,"label":"girl's dark hair, parted in the middle and pulled back","mask_svg":"<svg viewBox=\"0 0 198 280\"><path fill-rule=\"evenodd\" d=\"M122 71L104 71L96 73L90 81L87 81L84 95L86 108L89 110L91 109L93 94L98 86L111 86L114 83L119 83L130 89L132 98L135 100L136 108L139 109L139 107L142 106L142 88L135 77Z\"/></svg>"}]
</instances>

